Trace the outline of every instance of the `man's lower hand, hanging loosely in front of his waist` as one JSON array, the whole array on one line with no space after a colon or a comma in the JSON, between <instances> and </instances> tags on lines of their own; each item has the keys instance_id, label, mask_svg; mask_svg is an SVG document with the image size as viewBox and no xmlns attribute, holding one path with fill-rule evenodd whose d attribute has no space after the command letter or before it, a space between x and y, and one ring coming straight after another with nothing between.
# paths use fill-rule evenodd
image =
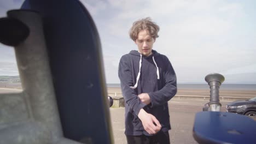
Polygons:
<instances>
[{"instance_id":1,"label":"man's lower hand, hanging loosely in front of his waist","mask_svg":"<svg viewBox=\"0 0 256 144\"><path fill-rule=\"evenodd\" d=\"M156 134L161 130L162 126L155 116L147 113L144 109L141 109L138 113L138 118L141 119L144 129L150 134Z\"/></svg>"}]
</instances>

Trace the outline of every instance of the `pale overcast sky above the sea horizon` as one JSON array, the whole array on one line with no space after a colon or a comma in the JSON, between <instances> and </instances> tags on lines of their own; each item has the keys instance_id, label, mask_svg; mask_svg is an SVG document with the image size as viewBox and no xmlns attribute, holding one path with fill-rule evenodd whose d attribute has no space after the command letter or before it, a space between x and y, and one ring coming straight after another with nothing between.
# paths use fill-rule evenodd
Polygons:
<instances>
[{"instance_id":1,"label":"pale overcast sky above the sea horizon","mask_svg":"<svg viewBox=\"0 0 256 144\"><path fill-rule=\"evenodd\" d=\"M151 17L160 26L153 49L166 55L178 83L205 83L219 73L225 83L256 84L256 1L82 0L101 38L107 83L119 83L122 55L137 50L132 23ZM0 0L0 16L22 1ZM19 75L13 48L0 45L0 75Z\"/></svg>"}]
</instances>

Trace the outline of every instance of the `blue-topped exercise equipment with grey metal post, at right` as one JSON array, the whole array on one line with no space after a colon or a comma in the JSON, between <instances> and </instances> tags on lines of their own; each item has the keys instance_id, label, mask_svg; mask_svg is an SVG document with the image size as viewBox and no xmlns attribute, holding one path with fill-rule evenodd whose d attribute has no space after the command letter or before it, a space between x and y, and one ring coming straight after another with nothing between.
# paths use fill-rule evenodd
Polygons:
<instances>
[{"instance_id":1,"label":"blue-topped exercise equipment with grey metal post, at right","mask_svg":"<svg viewBox=\"0 0 256 144\"><path fill-rule=\"evenodd\" d=\"M209 74L210 102L195 116L193 136L198 143L255 143L256 122L247 116L220 112L219 86L224 76ZM209 105L209 106L207 106Z\"/></svg>"}]
</instances>

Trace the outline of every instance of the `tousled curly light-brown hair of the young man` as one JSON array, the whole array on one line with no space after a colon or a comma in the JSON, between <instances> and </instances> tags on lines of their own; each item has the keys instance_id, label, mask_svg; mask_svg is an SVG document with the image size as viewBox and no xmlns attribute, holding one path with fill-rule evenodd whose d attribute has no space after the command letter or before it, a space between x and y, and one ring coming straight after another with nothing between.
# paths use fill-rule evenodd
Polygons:
<instances>
[{"instance_id":1,"label":"tousled curly light-brown hair of the young man","mask_svg":"<svg viewBox=\"0 0 256 144\"><path fill-rule=\"evenodd\" d=\"M153 22L150 17L146 17L144 19L137 20L133 22L133 25L129 31L130 38L133 41L136 41L138 38L138 33L141 32L142 30L147 30L150 34L151 37L156 38L159 37L158 32L159 32L159 26L156 25L155 22Z\"/></svg>"}]
</instances>

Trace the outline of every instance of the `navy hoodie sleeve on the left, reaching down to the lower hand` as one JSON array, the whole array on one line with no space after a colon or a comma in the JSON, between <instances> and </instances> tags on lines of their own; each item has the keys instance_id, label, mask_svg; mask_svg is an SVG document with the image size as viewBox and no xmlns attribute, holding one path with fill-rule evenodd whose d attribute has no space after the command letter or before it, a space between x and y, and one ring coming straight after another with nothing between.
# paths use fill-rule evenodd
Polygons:
<instances>
[{"instance_id":1,"label":"navy hoodie sleeve on the left, reaching down to the lower hand","mask_svg":"<svg viewBox=\"0 0 256 144\"><path fill-rule=\"evenodd\" d=\"M130 88L133 86L132 69L129 56L124 55L121 57L118 67L118 76L121 82L121 89L123 92L125 103L130 109L138 115L145 104L143 104L137 97L135 89Z\"/></svg>"}]
</instances>

